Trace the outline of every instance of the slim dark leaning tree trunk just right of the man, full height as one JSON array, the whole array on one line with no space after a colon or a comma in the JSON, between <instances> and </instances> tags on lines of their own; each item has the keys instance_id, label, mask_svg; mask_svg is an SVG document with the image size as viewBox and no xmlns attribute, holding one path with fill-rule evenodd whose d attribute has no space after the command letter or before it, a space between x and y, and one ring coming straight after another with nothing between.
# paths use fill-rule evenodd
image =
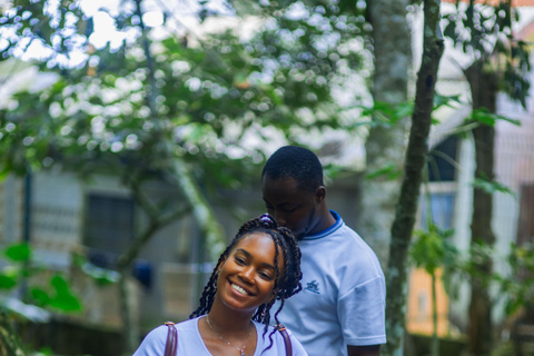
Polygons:
<instances>
[{"instance_id":1,"label":"slim dark leaning tree trunk just right of the man, full height","mask_svg":"<svg viewBox=\"0 0 534 356\"><path fill-rule=\"evenodd\" d=\"M422 172L428 154L428 134L434 106L437 68L444 43L439 29L439 0L425 0L423 60L417 75L415 107L400 196L392 226L392 244L386 275L386 334L389 355L400 356L404 348L407 294L407 255L417 212Z\"/></svg>"}]
</instances>

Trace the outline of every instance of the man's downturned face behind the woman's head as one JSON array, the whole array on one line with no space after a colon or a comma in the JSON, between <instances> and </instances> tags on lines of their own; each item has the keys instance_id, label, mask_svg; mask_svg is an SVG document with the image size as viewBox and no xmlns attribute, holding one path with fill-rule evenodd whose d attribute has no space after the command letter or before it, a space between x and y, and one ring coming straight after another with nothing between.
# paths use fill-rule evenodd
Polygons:
<instances>
[{"instance_id":1,"label":"man's downturned face behind the woman's head","mask_svg":"<svg viewBox=\"0 0 534 356\"><path fill-rule=\"evenodd\" d=\"M278 225L289 228L297 239L316 233L319 216L315 192L299 189L294 178L275 180L267 175L261 179L261 192L267 212Z\"/></svg>"}]
</instances>

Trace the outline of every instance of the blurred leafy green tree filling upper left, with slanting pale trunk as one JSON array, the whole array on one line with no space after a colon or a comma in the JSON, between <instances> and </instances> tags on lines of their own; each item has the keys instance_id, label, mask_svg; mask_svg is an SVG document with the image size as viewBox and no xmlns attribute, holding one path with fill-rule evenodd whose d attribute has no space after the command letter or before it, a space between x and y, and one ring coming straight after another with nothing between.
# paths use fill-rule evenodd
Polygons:
<instances>
[{"instance_id":1,"label":"blurred leafy green tree filling upper left, with slanting pale trunk","mask_svg":"<svg viewBox=\"0 0 534 356\"><path fill-rule=\"evenodd\" d=\"M118 259L131 350L138 330L129 323L123 277L144 244L190 211L209 259L216 259L225 245L210 207L216 188L236 188L257 176L247 172L264 158L263 142L270 139L265 128L297 141L307 130L340 127L332 89L347 68L357 67L359 56L349 41L359 21L349 1L314 6L301 19L273 4L277 24L251 40L241 42L226 31L191 46L184 33L152 40L144 2L125 1L112 20L135 39L95 49L88 42L92 20L76 2L52 3L17 1L2 9L2 33L10 31L2 58L39 46L47 56L37 65L55 72L57 81L13 95L10 108L0 110L0 172L61 165L81 177L116 175L130 189L149 218ZM352 17L343 14L345 8ZM167 13L168 21L172 16ZM76 53L83 60L72 67ZM257 141L253 148L245 145L250 138ZM154 180L175 185L184 199L152 201L144 189Z\"/></svg>"}]
</instances>

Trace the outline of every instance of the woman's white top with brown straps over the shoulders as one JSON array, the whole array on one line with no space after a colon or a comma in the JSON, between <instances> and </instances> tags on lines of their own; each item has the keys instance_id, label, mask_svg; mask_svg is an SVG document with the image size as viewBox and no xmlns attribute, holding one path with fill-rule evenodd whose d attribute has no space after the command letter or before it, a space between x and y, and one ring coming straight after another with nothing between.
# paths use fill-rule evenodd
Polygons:
<instances>
[{"instance_id":1,"label":"woman's white top with brown straps over the shoulders","mask_svg":"<svg viewBox=\"0 0 534 356\"><path fill-rule=\"evenodd\" d=\"M178 330L178 356L211 356L208 348L204 344L200 332L198 330L198 320L204 317L200 316L195 319L186 320L176 325ZM264 325L254 322L257 334L257 344L256 352L254 356L285 356L286 346L284 344L284 338L279 332L273 334L273 346L263 352L270 345L269 334L274 330L269 326L267 334L264 335ZM291 335L291 332L287 330L291 339L293 356L307 356L306 352L303 348L303 345ZM167 342L168 327L166 325L158 326L151 330L142 340L139 348L136 350L134 356L164 356L165 354L165 344ZM229 350L228 355L239 355L237 349Z\"/></svg>"}]
</instances>

